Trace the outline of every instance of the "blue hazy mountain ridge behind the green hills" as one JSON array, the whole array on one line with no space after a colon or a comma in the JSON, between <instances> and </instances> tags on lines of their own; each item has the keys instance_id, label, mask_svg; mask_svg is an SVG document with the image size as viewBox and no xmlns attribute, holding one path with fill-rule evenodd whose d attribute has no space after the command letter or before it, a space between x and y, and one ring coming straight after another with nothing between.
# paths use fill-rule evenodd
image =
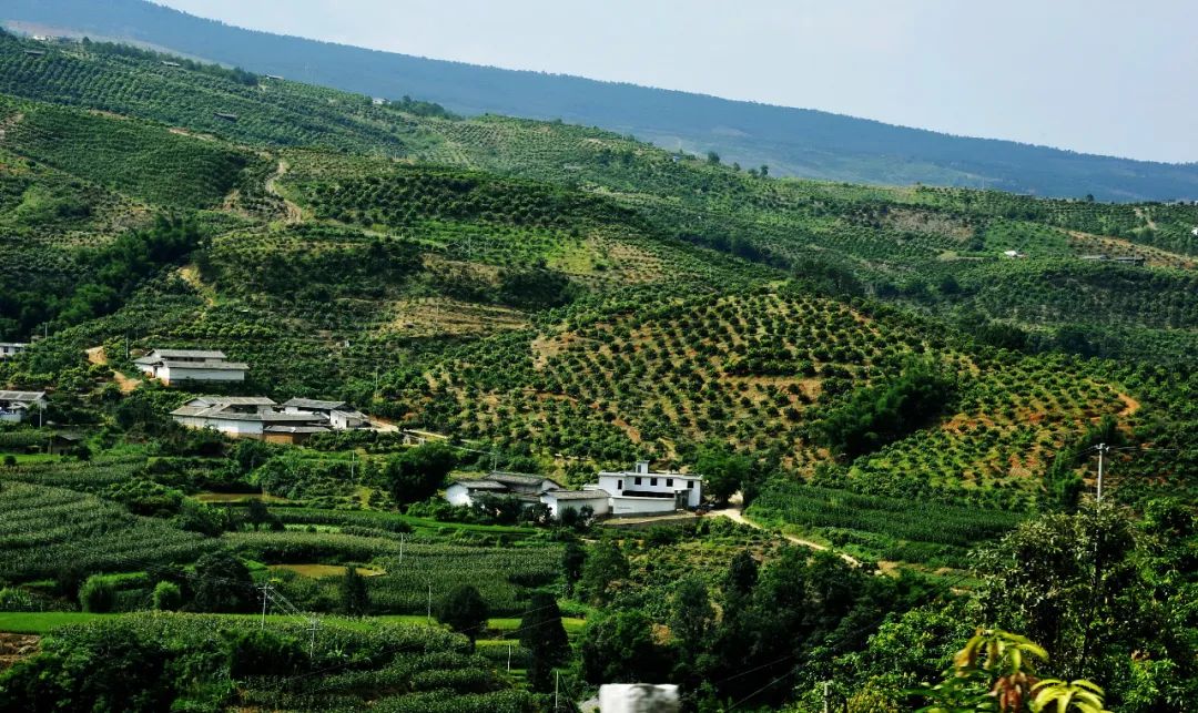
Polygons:
<instances>
[{"instance_id":1,"label":"blue hazy mountain ridge behind the green hills","mask_svg":"<svg viewBox=\"0 0 1198 713\"><path fill-rule=\"evenodd\" d=\"M429 60L232 28L144 0L7 0L0 20L85 34L371 96L412 96L461 114L562 119L666 149L715 151L775 175L980 186L1100 200L1198 199L1198 164L1093 156L952 137L810 109Z\"/></svg>"}]
</instances>

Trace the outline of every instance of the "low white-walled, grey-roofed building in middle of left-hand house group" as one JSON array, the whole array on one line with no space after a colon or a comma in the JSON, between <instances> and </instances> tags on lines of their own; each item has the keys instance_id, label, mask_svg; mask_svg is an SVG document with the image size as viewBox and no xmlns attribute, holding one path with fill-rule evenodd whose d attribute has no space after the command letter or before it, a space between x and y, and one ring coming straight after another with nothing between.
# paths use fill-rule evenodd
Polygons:
<instances>
[{"instance_id":1,"label":"low white-walled, grey-roofed building in middle of left-hand house group","mask_svg":"<svg viewBox=\"0 0 1198 713\"><path fill-rule=\"evenodd\" d=\"M313 413L285 413L274 409L276 403L266 397L199 397L187 401L170 415L187 428L211 428L235 439L268 439L300 431L277 427L309 427L302 435L328 430L322 416ZM294 441L294 439L292 439Z\"/></svg>"}]
</instances>

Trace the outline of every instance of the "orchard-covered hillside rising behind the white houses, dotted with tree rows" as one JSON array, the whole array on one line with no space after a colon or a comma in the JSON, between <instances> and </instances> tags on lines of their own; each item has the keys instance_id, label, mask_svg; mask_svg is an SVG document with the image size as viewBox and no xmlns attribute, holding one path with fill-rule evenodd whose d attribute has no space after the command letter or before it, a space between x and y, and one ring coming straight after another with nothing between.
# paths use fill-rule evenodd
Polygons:
<instances>
[{"instance_id":1,"label":"orchard-covered hillside rising behind the white houses, dotted with tree rows","mask_svg":"<svg viewBox=\"0 0 1198 713\"><path fill-rule=\"evenodd\" d=\"M4 249L28 266L10 280L54 295L6 292L0 326L56 334L4 367L14 383L86 383L98 344L204 345L268 364L248 389L349 397L556 470L684 465L714 440L791 478L1016 509L1103 417L1144 442L1188 428L1170 411L1188 371L1152 398L1135 368L1198 348L1194 206L778 180L598 129L30 47L0 38L0 89L23 97L4 102ZM845 425L927 385L946 398L901 428Z\"/></svg>"}]
</instances>

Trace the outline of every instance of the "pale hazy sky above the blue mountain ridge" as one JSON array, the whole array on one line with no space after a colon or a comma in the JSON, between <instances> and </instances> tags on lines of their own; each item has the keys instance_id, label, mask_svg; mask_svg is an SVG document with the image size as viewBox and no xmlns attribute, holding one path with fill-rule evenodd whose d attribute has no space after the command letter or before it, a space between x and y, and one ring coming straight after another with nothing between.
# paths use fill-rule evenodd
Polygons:
<instances>
[{"instance_id":1,"label":"pale hazy sky above the blue mountain ridge","mask_svg":"<svg viewBox=\"0 0 1198 713\"><path fill-rule=\"evenodd\" d=\"M1198 0L158 0L359 47L1198 161Z\"/></svg>"}]
</instances>

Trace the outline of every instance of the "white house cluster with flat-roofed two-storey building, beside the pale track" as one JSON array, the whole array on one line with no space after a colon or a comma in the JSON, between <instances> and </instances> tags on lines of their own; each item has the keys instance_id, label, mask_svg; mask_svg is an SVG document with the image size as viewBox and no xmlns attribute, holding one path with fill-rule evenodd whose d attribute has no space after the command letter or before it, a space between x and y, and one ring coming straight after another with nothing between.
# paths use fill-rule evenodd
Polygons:
<instances>
[{"instance_id":1,"label":"white house cluster with flat-roofed two-storey building, beside the pale track","mask_svg":"<svg viewBox=\"0 0 1198 713\"><path fill-rule=\"evenodd\" d=\"M492 472L485 478L450 484L446 500L471 507L483 495L514 497L527 506L544 503L555 518L561 518L567 509L581 512L583 507L595 515L658 515L698 507L703 497L702 476L654 472L647 460L631 471L603 471L598 481L581 490L569 490L544 476Z\"/></svg>"}]
</instances>

